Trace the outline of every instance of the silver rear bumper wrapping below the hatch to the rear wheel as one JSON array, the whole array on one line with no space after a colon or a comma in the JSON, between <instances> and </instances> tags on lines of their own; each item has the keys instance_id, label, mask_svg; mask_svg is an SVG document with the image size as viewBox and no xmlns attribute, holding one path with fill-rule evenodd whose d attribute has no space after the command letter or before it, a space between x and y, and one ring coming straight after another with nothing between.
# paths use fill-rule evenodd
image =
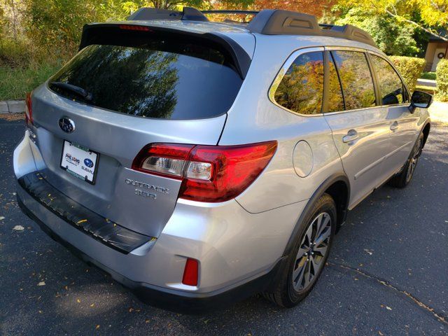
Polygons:
<instances>
[{"instance_id":1,"label":"silver rear bumper wrapping below the hatch to the rear wheel","mask_svg":"<svg viewBox=\"0 0 448 336\"><path fill-rule=\"evenodd\" d=\"M20 179L42 170L45 162L38 147L25 137L14 151L15 175ZM52 187L50 179L48 182ZM54 188L49 193L57 195L58 192ZM47 195L27 191L18 183L22 209L45 232L71 246L84 260L104 269L125 286L147 293L140 295L147 301L163 304L177 297L181 301L176 304L179 307L188 307L190 302L198 307L221 304L265 288L306 204L306 201L298 202L250 214L235 200L220 204L177 200L171 217L153 244L148 241L123 253L104 241L102 228L95 225L80 228L76 225L78 221L71 221L70 214L66 214L70 212L66 206L45 204ZM129 210L125 204L120 209ZM96 214L90 215L94 219ZM120 224L123 223L117 222ZM132 229L132 224L127 223L125 228ZM187 258L200 261L198 286L182 283Z\"/></svg>"}]
</instances>

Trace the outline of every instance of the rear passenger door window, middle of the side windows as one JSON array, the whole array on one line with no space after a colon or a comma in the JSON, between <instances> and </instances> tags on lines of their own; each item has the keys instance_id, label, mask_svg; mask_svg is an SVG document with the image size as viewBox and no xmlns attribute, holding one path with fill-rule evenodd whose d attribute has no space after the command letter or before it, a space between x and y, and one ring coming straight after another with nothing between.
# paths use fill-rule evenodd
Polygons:
<instances>
[{"instance_id":1,"label":"rear passenger door window, middle of the side windows","mask_svg":"<svg viewBox=\"0 0 448 336\"><path fill-rule=\"evenodd\" d=\"M363 52L331 52L344 90L345 109L375 106L372 73Z\"/></svg>"}]
</instances>

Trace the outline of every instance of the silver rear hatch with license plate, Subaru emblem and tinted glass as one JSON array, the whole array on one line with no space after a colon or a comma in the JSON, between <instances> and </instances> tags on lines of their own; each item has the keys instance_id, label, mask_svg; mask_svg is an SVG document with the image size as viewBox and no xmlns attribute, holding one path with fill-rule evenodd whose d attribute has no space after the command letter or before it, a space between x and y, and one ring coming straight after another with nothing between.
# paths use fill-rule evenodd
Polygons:
<instances>
[{"instance_id":1,"label":"silver rear hatch with license plate, Subaru emblem and tinted glass","mask_svg":"<svg viewBox=\"0 0 448 336\"><path fill-rule=\"evenodd\" d=\"M216 145L244 74L220 38L138 25L99 31L34 90L42 173L87 209L158 237L181 181L132 170L134 158L153 143Z\"/></svg>"}]
</instances>

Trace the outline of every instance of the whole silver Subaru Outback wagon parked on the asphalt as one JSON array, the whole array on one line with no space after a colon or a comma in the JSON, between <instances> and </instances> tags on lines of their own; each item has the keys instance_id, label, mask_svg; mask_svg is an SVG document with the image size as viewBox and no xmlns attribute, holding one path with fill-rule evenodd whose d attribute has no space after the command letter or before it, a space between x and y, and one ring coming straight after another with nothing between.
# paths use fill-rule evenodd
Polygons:
<instances>
[{"instance_id":1,"label":"whole silver Subaru Outback wagon parked on the asphalt","mask_svg":"<svg viewBox=\"0 0 448 336\"><path fill-rule=\"evenodd\" d=\"M19 204L147 302L293 307L347 211L411 181L431 97L356 27L209 13L84 27L78 55L27 97Z\"/></svg>"}]
</instances>

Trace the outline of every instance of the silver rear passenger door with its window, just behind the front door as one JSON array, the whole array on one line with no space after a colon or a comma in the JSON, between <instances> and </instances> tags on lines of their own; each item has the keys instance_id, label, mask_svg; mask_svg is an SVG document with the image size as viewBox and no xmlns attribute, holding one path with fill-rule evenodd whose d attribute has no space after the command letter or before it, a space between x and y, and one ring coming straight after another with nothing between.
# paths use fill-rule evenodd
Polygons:
<instances>
[{"instance_id":1,"label":"silver rear passenger door with its window, just behind the front door","mask_svg":"<svg viewBox=\"0 0 448 336\"><path fill-rule=\"evenodd\" d=\"M389 153L390 121L386 109L377 106L365 52L336 49L326 55L325 119L350 180L349 207L354 207L384 179L382 164Z\"/></svg>"}]
</instances>

